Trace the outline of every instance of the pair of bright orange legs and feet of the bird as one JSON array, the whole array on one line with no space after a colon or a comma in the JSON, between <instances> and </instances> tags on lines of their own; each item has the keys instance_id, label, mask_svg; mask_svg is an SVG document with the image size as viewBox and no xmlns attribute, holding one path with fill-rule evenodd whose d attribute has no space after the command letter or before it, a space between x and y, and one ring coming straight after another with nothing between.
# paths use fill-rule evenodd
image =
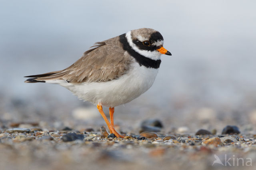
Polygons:
<instances>
[{"instance_id":1,"label":"pair of bright orange legs and feet of the bird","mask_svg":"<svg viewBox=\"0 0 256 170\"><path fill-rule=\"evenodd\" d=\"M106 124L108 125L108 129L110 131L110 133L114 133L116 135L117 138L124 138L123 135L118 134L118 132L116 132L115 128L114 128L114 107L113 108L109 108L109 114L110 114L110 122L108 121L104 111L102 110L102 105L98 104L97 105L97 109L99 110L100 114L102 115L103 119L105 120Z\"/></svg>"}]
</instances>

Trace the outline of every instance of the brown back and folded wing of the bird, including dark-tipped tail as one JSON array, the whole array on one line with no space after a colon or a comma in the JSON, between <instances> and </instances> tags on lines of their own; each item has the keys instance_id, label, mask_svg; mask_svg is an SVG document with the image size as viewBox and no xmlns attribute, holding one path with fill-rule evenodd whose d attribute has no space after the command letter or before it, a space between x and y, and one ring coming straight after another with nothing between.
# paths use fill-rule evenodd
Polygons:
<instances>
[{"instance_id":1,"label":"brown back and folded wing of the bird, including dark-tipped tail","mask_svg":"<svg viewBox=\"0 0 256 170\"><path fill-rule=\"evenodd\" d=\"M42 75L27 76L34 78L25 82L56 79L64 79L70 83L109 81L125 74L130 68L132 58L124 53L119 37L98 42L92 47L94 48L84 52L84 55L70 67Z\"/></svg>"}]
</instances>

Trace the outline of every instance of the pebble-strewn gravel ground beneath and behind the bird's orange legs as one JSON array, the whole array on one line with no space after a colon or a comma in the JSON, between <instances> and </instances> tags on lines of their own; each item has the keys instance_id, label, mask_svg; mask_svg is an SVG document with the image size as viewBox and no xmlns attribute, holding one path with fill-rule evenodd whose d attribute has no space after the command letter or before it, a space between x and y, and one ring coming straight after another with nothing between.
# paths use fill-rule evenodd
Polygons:
<instances>
[{"instance_id":1,"label":"pebble-strewn gravel ground beneath and behind the bird's orange legs","mask_svg":"<svg viewBox=\"0 0 256 170\"><path fill-rule=\"evenodd\" d=\"M134 101L117 107L114 115L116 130L126 134L124 139L108 136L95 106L46 101L1 100L1 169L256 166L254 101L250 109L248 103L232 109L178 103L170 110Z\"/></svg>"}]
</instances>

